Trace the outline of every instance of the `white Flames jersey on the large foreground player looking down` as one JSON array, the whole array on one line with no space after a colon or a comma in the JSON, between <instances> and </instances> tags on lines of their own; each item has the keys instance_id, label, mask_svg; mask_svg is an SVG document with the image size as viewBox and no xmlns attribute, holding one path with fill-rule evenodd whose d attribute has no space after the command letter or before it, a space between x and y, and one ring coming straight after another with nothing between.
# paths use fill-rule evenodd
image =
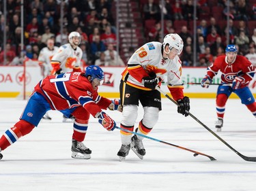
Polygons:
<instances>
[{"instance_id":1,"label":"white Flames jersey on the large foreground player looking down","mask_svg":"<svg viewBox=\"0 0 256 191\"><path fill-rule=\"evenodd\" d=\"M173 60L162 58L162 44L157 41L149 42L139 48L128 60L128 67L122 73L123 80L131 86L147 89L143 85L143 72L135 72L141 66L146 73L154 72L156 76L164 79L167 75L167 84L171 88L179 86L183 88L182 83L182 62L179 56Z\"/></svg>"}]
</instances>

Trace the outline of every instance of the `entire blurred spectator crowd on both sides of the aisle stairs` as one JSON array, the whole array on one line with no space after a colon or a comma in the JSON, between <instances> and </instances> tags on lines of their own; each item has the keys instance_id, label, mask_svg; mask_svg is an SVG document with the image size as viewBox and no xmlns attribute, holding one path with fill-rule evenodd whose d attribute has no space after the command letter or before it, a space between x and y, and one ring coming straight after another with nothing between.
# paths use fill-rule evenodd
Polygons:
<instances>
[{"instance_id":1,"label":"entire blurred spectator crowd on both sides of the aisle stairs","mask_svg":"<svg viewBox=\"0 0 256 191\"><path fill-rule=\"evenodd\" d=\"M129 1L129 0L120 0ZM134 1L134 0L130 0ZM138 2L138 1L137 1ZM194 50L193 0L139 0L146 41L162 41L161 12L164 14L164 35L178 33L184 39L181 55L184 66L208 66L216 56L225 54L228 44L236 44L238 54L256 66L256 1L255 0L197 0L196 41ZM63 6L61 6L61 3ZM124 66L117 55L116 27L113 18L113 0L26 0L24 1L24 44L21 48L20 0L7 0L6 20L3 1L0 1L0 65L6 52L7 65L22 65L26 56L38 59L47 39L55 46L68 43L68 34L81 34L81 49L85 65ZM61 7L63 7L63 33L61 35ZM229 13L227 8L229 7ZM229 29L227 29L229 17ZM4 22L6 26L4 27ZM3 31L7 44L3 50ZM24 50L24 51L21 51ZM197 52L196 64L194 54Z\"/></svg>"}]
</instances>

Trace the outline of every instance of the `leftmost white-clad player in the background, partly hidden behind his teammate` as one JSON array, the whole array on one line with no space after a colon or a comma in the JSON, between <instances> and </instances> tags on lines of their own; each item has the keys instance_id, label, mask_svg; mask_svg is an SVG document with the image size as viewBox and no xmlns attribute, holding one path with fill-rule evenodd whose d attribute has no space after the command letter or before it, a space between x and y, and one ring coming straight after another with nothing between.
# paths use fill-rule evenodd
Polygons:
<instances>
[{"instance_id":1,"label":"leftmost white-clad player in the background, partly hidden behind his teammate","mask_svg":"<svg viewBox=\"0 0 256 191\"><path fill-rule=\"evenodd\" d=\"M51 58L54 54L57 53L59 47L54 46L54 40L47 40L47 47L42 48L40 54L38 56L38 61L40 61L40 66L42 69L42 74L44 77L51 74L52 66L51 66ZM51 120L51 117L48 115L48 112L43 116L45 120Z\"/></svg>"}]
</instances>

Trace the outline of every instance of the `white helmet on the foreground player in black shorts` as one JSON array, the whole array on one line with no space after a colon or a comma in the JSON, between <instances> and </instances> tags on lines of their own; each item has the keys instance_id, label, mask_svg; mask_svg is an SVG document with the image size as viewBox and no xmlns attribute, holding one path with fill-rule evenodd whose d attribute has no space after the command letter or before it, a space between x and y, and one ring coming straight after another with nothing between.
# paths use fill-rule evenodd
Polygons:
<instances>
[{"instance_id":1,"label":"white helmet on the foreground player in black shorts","mask_svg":"<svg viewBox=\"0 0 256 191\"><path fill-rule=\"evenodd\" d=\"M165 52L166 54L169 54L171 49L175 48L178 51L177 54L180 55L182 53L184 43L180 35L177 33L171 33L165 36L162 45L164 46L164 51L165 46L169 45L169 52Z\"/></svg>"}]
</instances>

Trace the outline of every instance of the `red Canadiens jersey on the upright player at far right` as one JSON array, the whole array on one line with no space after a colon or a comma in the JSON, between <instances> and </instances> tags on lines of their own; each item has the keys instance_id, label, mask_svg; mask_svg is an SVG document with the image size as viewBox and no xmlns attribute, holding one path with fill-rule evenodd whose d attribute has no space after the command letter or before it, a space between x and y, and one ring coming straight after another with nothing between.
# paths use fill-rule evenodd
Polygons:
<instances>
[{"instance_id":1,"label":"red Canadiens jersey on the upright player at far right","mask_svg":"<svg viewBox=\"0 0 256 191\"><path fill-rule=\"evenodd\" d=\"M218 71L222 72L222 82L231 84L235 77L241 77L243 79L242 87L244 87L253 80L255 68L244 56L237 55L233 63L227 63L227 57L223 55L218 56L214 63L208 67L207 74L212 78Z\"/></svg>"}]
</instances>

